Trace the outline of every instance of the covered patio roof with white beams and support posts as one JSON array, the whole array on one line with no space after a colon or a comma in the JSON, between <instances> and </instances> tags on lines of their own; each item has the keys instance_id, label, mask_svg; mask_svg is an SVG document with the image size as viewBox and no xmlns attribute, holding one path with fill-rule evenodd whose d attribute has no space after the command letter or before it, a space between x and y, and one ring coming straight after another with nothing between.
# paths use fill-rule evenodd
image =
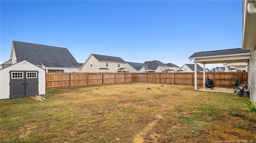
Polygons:
<instances>
[{"instance_id":1,"label":"covered patio roof with white beams and support posts","mask_svg":"<svg viewBox=\"0 0 256 143\"><path fill-rule=\"evenodd\" d=\"M204 82L205 82L205 64L217 63L249 63L250 51L236 49L225 49L216 51L196 52L188 59L193 60L195 63L195 90L197 90L197 63L203 64ZM203 83L204 83L203 82Z\"/></svg>"}]
</instances>

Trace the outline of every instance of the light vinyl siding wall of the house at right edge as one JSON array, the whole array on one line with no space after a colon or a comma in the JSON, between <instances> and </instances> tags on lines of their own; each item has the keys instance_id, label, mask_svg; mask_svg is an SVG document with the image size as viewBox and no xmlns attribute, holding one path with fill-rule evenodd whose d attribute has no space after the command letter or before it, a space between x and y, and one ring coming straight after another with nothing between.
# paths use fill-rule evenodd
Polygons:
<instances>
[{"instance_id":1,"label":"light vinyl siding wall of the house at right edge","mask_svg":"<svg viewBox=\"0 0 256 143\"><path fill-rule=\"evenodd\" d=\"M251 50L251 56L250 56L250 98L254 104L256 104L256 85L255 85L255 54L256 54L256 48Z\"/></svg>"}]
</instances>

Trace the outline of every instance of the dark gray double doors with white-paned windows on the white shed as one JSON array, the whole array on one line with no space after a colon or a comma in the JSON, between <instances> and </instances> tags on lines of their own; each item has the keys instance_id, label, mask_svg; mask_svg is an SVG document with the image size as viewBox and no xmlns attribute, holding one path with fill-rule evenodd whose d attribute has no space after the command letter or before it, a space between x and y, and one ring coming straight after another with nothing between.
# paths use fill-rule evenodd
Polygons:
<instances>
[{"instance_id":1,"label":"dark gray double doors with white-paned windows on the white shed","mask_svg":"<svg viewBox=\"0 0 256 143\"><path fill-rule=\"evenodd\" d=\"M38 95L38 71L10 71L10 98Z\"/></svg>"}]
</instances>

